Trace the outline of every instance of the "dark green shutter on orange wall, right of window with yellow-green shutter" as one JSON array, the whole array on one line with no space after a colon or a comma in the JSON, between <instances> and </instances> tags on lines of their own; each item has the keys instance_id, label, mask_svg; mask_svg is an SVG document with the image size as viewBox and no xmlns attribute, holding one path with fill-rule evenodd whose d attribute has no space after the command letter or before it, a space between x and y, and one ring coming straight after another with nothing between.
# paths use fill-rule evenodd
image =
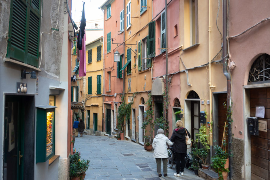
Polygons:
<instances>
[{"instance_id":1,"label":"dark green shutter on orange wall, right of window with yellow-green shutter","mask_svg":"<svg viewBox=\"0 0 270 180\"><path fill-rule=\"evenodd\" d=\"M152 21L148 24L148 36L149 36L149 42L147 42L148 51L149 51L149 57L155 57L155 38L156 38L156 30L155 30L156 22Z\"/></svg>"}]
</instances>

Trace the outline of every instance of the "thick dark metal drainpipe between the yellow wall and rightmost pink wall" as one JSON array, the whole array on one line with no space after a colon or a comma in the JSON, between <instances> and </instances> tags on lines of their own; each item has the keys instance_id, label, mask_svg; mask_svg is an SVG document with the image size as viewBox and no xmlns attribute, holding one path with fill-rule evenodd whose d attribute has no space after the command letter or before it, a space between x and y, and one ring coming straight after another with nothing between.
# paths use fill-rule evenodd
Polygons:
<instances>
[{"instance_id":1,"label":"thick dark metal drainpipe between the yellow wall and rightmost pink wall","mask_svg":"<svg viewBox=\"0 0 270 180\"><path fill-rule=\"evenodd\" d=\"M228 73L228 58L227 58L227 0L223 0L222 5L222 14L223 14L223 74L227 79L227 114L231 113L231 75ZM226 57L226 58L225 58ZM231 117L228 117L228 153L229 153L229 179L232 179L232 125L230 123Z\"/></svg>"}]
</instances>

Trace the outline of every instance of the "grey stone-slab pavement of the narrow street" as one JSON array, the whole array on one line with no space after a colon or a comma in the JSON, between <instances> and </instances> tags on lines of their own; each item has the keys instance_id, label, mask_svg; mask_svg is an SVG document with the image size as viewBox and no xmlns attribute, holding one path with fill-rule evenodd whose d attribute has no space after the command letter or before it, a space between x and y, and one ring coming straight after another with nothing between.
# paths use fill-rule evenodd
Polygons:
<instances>
[{"instance_id":1,"label":"grey stone-slab pavement of the narrow street","mask_svg":"<svg viewBox=\"0 0 270 180\"><path fill-rule=\"evenodd\" d=\"M90 166L85 180L122 179L122 180L202 180L193 171L184 169L184 176L176 177L175 165L168 168L168 176L158 177L153 151L146 151L143 146L129 141L121 141L107 136L83 135L76 137L74 147L81 152L82 159L89 159Z\"/></svg>"}]
</instances>

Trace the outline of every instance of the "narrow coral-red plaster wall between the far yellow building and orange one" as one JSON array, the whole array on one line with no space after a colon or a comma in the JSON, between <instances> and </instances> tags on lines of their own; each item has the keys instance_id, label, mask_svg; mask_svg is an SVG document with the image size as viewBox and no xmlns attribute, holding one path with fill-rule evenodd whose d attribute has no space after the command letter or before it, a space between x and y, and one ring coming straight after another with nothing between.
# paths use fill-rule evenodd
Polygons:
<instances>
[{"instance_id":1,"label":"narrow coral-red plaster wall between the far yellow building and orange one","mask_svg":"<svg viewBox=\"0 0 270 180\"><path fill-rule=\"evenodd\" d=\"M124 54L125 47L123 45L119 45L123 43L124 41L124 33L119 32L120 31L120 12L123 10L124 5L123 5L122 0L107 1L107 2L111 3L111 17L109 19L107 19L106 6L102 7L102 9L105 12L104 13L104 75L106 78L108 75L107 72L108 71L111 72L111 91L106 91L106 89L109 89L109 88L108 88L107 80L105 80L104 94L111 95L111 96L105 96L104 103L111 104L111 109L113 110L114 103L111 103L111 102L121 102L119 93L123 93L123 74L122 74L122 78L117 78L117 63L114 62L113 53L116 52L117 50L121 55ZM124 26L124 29L125 29L125 26ZM113 42L111 42L111 52L107 52L107 34L109 32L111 32L111 38L114 38ZM119 43L119 44L117 45L113 43ZM125 58L123 57L122 67L123 65L125 65L124 60ZM117 93L116 97L114 96L115 93ZM104 109L104 114L105 114L105 109Z\"/></svg>"}]
</instances>

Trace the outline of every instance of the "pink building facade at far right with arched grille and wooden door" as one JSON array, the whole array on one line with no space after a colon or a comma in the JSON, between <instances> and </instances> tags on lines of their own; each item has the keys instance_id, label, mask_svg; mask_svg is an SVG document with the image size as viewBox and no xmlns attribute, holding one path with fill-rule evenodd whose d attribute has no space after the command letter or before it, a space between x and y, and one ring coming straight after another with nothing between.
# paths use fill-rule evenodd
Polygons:
<instances>
[{"instance_id":1,"label":"pink building facade at far right with arched grille and wooden door","mask_svg":"<svg viewBox=\"0 0 270 180\"><path fill-rule=\"evenodd\" d=\"M270 178L269 7L262 0L229 3L229 61L236 64L231 71L233 179ZM265 110L261 116L257 106ZM259 135L249 133L250 116L258 117Z\"/></svg>"}]
</instances>

